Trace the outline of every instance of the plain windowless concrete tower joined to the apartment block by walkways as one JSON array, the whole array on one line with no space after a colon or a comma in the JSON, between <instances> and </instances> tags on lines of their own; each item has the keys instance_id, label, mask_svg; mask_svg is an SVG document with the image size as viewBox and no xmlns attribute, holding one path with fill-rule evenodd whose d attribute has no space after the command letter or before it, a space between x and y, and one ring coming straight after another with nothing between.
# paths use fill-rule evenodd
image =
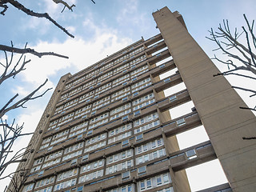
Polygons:
<instances>
[{"instance_id":1,"label":"plain windowless concrete tower joined to the apartment block by walkways","mask_svg":"<svg viewBox=\"0 0 256 192\"><path fill-rule=\"evenodd\" d=\"M176 13L177 14L177 13ZM153 14L234 191L256 189L256 118L186 28L168 10ZM210 173L209 173L210 174Z\"/></svg>"}]
</instances>

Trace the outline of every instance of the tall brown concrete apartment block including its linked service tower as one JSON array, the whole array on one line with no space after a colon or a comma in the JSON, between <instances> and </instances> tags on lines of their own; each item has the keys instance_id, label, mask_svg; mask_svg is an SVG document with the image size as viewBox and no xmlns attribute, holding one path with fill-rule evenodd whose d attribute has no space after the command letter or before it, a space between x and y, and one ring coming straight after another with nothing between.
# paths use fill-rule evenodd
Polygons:
<instances>
[{"instance_id":1,"label":"tall brown concrete apartment block including its linked service tower","mask_svg":"<svg viewBox=\"0 0 256 192\"><path fill-rule=\"evenodd\" d=\"M22 191L190 191L185 169L214 158L229 183L203 191L254 191L255 145L242 141L255 134L254 114L213 77L218 69L178 12L153 16L160 34L62 76L31 138L34 153L18 166L30 169ZM185 90L165 96L182 82ZM189 113L171 118L191 100ZM175 135L201 125L210 141L179 150Z\"/></svg>"}]
</instances>

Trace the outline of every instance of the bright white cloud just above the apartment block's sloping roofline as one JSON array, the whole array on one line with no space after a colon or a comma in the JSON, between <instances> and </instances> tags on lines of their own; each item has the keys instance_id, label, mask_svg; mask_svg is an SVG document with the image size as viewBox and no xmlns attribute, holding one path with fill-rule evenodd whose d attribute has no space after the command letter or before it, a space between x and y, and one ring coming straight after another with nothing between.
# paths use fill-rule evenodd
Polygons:
<instances>
[{"instance_id":1,"label":"bright white cloud just above the apartment block's sloping roofline","mask_svg":"<svg viewBox=\"0 0 256 192\"><path fill-rule=\"evenodd\" d=\"M33 83L34 87L38 86L46 78L58 74L59 70L67 70L70 67L82 70L132 42L129 38L118 38L118 33L115 30L104 26L95 26L94 22L88 19L84 22L84 26L94 31L94 37L87 42L82 37L77 37L69 38L65 42L38 42L33 47L29 45L38 52L50 51L66 55L69 59L54 56L43 56L42 58L33 55L27 56L32 61L22 73L23 81ZM64 74L59 74L59 78L62 75ZM22 89L19 88L19 90Z\"/></svg>"}]
</instances>

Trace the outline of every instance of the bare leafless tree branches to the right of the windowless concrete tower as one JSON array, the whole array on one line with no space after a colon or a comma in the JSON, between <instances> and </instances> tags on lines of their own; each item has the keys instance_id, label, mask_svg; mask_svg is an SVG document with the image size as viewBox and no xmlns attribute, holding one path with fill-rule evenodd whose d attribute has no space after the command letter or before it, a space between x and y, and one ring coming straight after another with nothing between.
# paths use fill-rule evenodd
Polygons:
<instances>
[{"instance_id":1,"label":"bare leafless tree branches to the right of the windowless concrete tower","mask_svg":"<svg viewBox=\"0 0 256 192\"><path fill-rule=\"evenodd\" d=\"M228 70L214 74L218 75L236 75L241 78L245 78L246 80L254 81L256 80L256 38L254 35L254 20L250 25L246 15L243 14L246 20L246 26L242 26L242 32L238 33L237 28L234 30L234 34L232 34L230 30L230 25L228 20L223 20L223 24L219 24L218 31L214 31L211 29L210 39L211 41L217 44L216 50L221 50L222 54L226 55L229 59L227 61L223 61L222 59L217 58L214 55L214 59L222 64L226 65ZM243 35L242 35L243 34ZM243 37L242 41L238 41L238 38ZM245 42L242 44L242 42ZM243 90L246 92L252 93L250 98L256 96L256 90L246 89L239 86L232 86L234 89ZM242 110L253 110L256 111L256 106L254 108L248 106L240 106ZM256 137L243 137L244 140L256 139Z\"/></svg>"}]
</instances>

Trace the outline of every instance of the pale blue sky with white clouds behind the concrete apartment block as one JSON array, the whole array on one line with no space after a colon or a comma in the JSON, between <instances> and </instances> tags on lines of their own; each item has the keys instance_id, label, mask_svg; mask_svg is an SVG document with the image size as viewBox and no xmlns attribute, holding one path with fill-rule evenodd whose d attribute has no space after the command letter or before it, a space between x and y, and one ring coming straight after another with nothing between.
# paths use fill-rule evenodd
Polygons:
<instances>
[{"instance_id":1,"label":"pale blue sky with white clouds behind the concrete apartment block","mask_svg":"<svg viewBox=\"0 0 256 192\"><path fill-rule=\"evenodd\" d=\"M63 6L51 0L22 1L24 6L34 12L49 13L74 34L75 38L70 38L45 18L32 18L11 5L8 5L9 9L6 10L5 16L0 15L0 44L10 46L12 41L14 46L22 48L27 42L27 47L38 52L51 51L69 56L69 59L53 56L37 58L27 54L26 59L31 59L31 62L27 64L26 70L0 86L0 106L16 93L22 98L42 84L46 78L49 81L41 93L47 88L54 88L62 75L74 74L142 37L147 39L158 34L152 13L164 6L171 11L178 10L182 14L188 31L210 58L213 58L214 54L221 55L220 52L212 51L216 46L214 42L206 39L211 27L217 29L223 19L228 19L231 29L238 27L241 31L241 26L245 25L242 14L246 14L249 21L256 16L254 0L94 0L96 4L90 0L66 2L75 4L73 12L66 9L61 13ZM18 57L14 55L14 61L18 61ZM5 63L3 52L0 53L0 61ZM216 62L216 65L220 70L226 70L220 63ZM237 78L229 80L232 85L244 85ZM19 124L25 122L26 132L33 131L52 93L53 90L46 93L43 98L26 104L26 109L13 110L6 114L7 121L11 122L15 118ZM254 101L248 99L248 94L238 93L246 99L248 105L255 106ZM178 112L179 109L170 111L172 117ZM178 135L178 140L183 149L206 141L207 135L203 127L198 127ZM28 137L19 139L14 147L26 146L28 141ZM11 168L14 169L14 166ZM192 167L186 172L192 191L226 182L218 160ZM0 180L0 191L8 182L7 179Z\"/></svg>"}]
</instances>

